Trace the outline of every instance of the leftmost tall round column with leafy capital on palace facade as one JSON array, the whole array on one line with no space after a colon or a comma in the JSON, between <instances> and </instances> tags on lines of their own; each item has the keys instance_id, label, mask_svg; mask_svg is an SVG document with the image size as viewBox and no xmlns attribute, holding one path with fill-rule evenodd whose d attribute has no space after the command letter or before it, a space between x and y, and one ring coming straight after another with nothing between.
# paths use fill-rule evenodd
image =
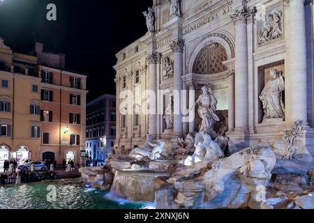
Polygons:
<instances>
[{"instance_id":1,"label":"leftmost tall round column with leafy capital on palace facade","mask_svg":"<svg viewBox=\"0 0 314 223\"><path fill-rule=\"evenodd\" d=\"M157 62L160 54L153 53L148 58L149 62L149 134L157 134Z\"/></svg>"}]
</instances>

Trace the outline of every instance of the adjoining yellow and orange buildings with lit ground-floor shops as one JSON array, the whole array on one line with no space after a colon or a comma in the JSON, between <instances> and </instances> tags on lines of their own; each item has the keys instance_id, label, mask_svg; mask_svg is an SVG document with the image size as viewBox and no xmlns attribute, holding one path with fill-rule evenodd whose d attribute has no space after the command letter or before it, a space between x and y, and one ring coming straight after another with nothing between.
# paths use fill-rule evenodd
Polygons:
<instances>
[{"instance_id":1,"label":"adjoining yellow and orange buildings with lit ground-floor shops","mask_svg":"<svg viewBox=\"0 0 314 223\"><path fill-rule=\"evenodd\" d=\"M43 60L43 59L42 59ZM0 168L4 160L71 158L85 145L86 76L18 54L0 41ZM63 64L63 63L62 63ZM62 67L62 66L59 66Z\"/></svg>"}]
</instances>

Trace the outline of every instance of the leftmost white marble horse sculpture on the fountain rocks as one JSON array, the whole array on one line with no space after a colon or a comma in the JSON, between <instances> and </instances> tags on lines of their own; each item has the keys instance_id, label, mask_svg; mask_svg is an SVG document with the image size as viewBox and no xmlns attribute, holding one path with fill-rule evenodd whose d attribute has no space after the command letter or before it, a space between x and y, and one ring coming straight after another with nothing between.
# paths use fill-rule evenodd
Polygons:
<instances>
[{"instance_id":1,"label":"leftmost white marble horse sculpture on the fountain rocks","mask_svg":"<svg viewBox=\"0 0 314 223\"><path fill-rule=\"evenodd\" d=\"M149 157L151 160L158 160L161 157L161 153L165 150L164 146L164 141L160 141L159 144L153 144L151 136L148 134L147 143L144 148L133 148L129 155L135 157L136 160L143 160L144 157Z\"/></svg>"}]
</instances>

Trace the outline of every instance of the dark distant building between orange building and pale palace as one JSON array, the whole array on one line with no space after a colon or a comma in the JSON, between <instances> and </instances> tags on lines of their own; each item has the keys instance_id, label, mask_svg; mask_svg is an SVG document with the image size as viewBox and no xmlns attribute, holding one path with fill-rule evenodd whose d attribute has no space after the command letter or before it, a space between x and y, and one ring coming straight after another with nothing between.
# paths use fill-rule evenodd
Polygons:
<instances>
[{"instance_id":1,"label":"dark distant building between orange building and pale palace","mask_svg":"<svg viewBox=\"0 0 314 223\"><path fill-rule=\"evenodd\" d=\"M112 154L116 137L116 96L102 95L87 104L86 149L91 160Z\"/></svg>"}]
</instances>

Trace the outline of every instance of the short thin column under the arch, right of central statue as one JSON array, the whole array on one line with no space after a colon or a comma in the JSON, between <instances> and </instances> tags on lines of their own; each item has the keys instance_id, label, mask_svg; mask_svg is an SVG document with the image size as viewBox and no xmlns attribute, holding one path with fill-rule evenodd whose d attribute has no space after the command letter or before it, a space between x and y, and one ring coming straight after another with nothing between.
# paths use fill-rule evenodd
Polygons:
<instances>
[{"instance_id":1,"label":"short thin column under the arch, right of central statue","mask_svg":"<svg viewBox=\"0 0 314 223\"><path fill-rule=\"evenodd\" d=\"M228 129L234 130L234 70L228 70L229 96L228 96Z\"/></svg>"}]
</instances>

